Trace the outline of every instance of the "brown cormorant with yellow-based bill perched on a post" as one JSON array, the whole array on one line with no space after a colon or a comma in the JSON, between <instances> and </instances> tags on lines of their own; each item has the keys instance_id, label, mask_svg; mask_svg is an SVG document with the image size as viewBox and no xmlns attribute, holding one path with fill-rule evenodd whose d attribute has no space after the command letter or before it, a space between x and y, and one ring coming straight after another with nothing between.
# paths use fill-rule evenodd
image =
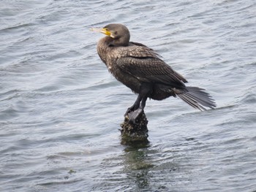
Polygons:
<instances>
[{"instance_id":1,"label":"brown cormorant with yellow-based bill perched on a post","mask_svg":"<svg viewBox=\"0 0 256 192\"><path fill-rule=\"evenodd\" d=\"M129 123L136 123L144 112L148 98L160 101L170 96L178 97L201 111L206 107L217 107L205 89L186 86L188 81L153 49L139 42L130 42L127 26L111 23L103 28L91 28L91 31L105 34L97 43L97 53L108 71L138 94L134 104L124 114L128 116Z\"/></svg>"}]
</instances>

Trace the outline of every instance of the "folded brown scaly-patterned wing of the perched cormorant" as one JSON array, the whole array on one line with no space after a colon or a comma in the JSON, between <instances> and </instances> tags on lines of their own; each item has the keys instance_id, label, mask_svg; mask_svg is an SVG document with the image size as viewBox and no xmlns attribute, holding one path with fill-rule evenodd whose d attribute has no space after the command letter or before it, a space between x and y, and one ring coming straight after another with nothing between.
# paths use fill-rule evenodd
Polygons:
<instances>
[{"instance_id":1,"label":"folded brown scaly-patterned wing of the perched cormorant","mask_svg":"<svg viewBox=\"0 0 256 192\"><path fill-rule=\"evenodd\" d=\"M127 50L127 49L125 49ZM175 72L170 66L162 61L157 53L143 46L131 46L129 51L122 53L117 58L116 64L119 69L126 72L138 80L145 82L160 82L167 85L181 85L187 80ZM125 55L125 56L124 56Z\"/></svg>"}]
</instances>

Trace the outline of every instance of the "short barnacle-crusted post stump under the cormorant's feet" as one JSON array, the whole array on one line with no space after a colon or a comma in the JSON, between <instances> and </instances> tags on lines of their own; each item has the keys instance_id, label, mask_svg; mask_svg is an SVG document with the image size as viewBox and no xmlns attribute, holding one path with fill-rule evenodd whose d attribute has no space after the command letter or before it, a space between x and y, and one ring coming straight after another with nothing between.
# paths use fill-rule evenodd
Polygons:
<instances>
[{"instance_id":1,"label":"short barnacle-crusted post stump under the cormorant's feet","mask_svg":"<svg viewBox=\"0 0 256 192\"><path fill-rule=\"evenodd\" d=\"M121 123L121 143L126 145L131 142L148 142L148 120L144 112L136 119L136 123L130 123L129 117L124 117Z\"/></svg>"}]
</instances>

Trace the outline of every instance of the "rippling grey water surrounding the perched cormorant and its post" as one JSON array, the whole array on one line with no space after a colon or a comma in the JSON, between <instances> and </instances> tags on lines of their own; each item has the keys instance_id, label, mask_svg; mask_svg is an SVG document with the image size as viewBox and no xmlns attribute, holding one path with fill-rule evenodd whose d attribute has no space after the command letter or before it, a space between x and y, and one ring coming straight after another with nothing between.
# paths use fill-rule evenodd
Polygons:
<instances>
[{"instance_id":1,"label":"rippling grey water surrounding the perched cormorant and its post","mask_svg":"<svg viewBox=\"0 0 256 192\"><path fill-rule=\"evenodd\" d=\"M136 96L97 55L108 23L217 109L148 101L148 144L121 145ZM255 74L255 1L2 0L0 191L255 191Z\"/></svg>"}]
</instances>

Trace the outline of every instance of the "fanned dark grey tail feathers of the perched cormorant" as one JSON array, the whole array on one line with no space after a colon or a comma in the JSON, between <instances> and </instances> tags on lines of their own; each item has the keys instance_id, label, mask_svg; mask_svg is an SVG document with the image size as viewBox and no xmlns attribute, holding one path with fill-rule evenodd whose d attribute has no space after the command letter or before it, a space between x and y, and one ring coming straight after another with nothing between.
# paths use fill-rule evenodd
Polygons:
<instances>
[{"instance_id":1,"label":"fanned dark grey tail feathers of the perched cormorant","mask_svg":"<svg viewBox=\"0 0 256 192\"><path fill-rule=\"evenodd\" d=\"M187 91L180 91L177 89L173 91L179 98L198 110L203 111L206 110L205 107L209 107L211 109L216 107L214 99L212 99L203 88L187 87Z\"/></svg>"}]
</instances>

